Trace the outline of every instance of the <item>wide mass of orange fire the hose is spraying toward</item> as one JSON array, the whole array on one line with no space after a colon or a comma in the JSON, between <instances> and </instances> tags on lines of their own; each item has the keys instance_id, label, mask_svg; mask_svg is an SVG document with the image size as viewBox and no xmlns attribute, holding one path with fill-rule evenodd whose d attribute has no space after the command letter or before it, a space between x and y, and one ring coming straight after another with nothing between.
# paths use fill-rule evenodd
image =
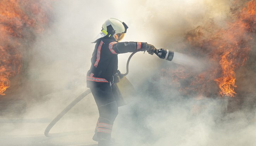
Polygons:
<instances>
[{"instance_id":1,"label":"wide mass of orange fire the hose is spraying toward","mask_svg":"<svg viewBox=\"0 0 256 146\"><path fill-rule=\"evenodd\" d=\"M252 47L250 42L255 41L252 35L256 33L256 1L249 1L236 11L228 18L230 20L227 20L225 28L210 23L207 27L198 27L187 33L187 46L190 47L186 53L195 53L211 63L200 74L191 74L186 69L184 74L189 77L185 80L179 77L184 67L178 66L172 73L173 81L186 82L186 85L180 86L181 91L190 90L208 96L216 94L213 92L218 87L221 96L234 97L237 94L235 71L247 61Z\"/></svg>"}]
</instances>

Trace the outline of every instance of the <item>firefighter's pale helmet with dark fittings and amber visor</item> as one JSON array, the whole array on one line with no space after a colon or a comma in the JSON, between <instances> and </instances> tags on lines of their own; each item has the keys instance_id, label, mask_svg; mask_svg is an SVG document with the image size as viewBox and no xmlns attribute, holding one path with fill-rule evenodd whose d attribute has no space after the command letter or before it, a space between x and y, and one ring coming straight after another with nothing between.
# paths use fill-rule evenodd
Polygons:
<instances>
[{"instance_id":1,"label":"firefighter's pale helmet with dark fittings and amber visor","mask_svg":"<svg viewBox=\"0 0 256 146\"><path fill-rule=\"evenodd\" d=\"M127 31L128 26L115 18L110 18L102 25L102 32L108 37L113 36L117 41L121 41Z\"/></svg>"}]
</instances>

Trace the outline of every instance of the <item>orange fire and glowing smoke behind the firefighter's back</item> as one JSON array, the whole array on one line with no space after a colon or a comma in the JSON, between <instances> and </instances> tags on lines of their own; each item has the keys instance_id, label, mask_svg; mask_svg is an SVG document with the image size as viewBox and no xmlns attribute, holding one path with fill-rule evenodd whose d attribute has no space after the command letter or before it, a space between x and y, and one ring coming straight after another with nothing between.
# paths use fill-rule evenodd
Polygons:
<instances>
[{"instance_id":1,"label":"orange fire and glowing smoke behind the firefighter's back","mask_svg":"<svg viewBox=\"0 0 256 146\"><path fill-rule=\"evenodd\" d=\"M11 86L9 79L20 73L34 34L47 25L45 7L50 8L47 0L0 1L0 95Z\"/></svg>"}]
</instances>

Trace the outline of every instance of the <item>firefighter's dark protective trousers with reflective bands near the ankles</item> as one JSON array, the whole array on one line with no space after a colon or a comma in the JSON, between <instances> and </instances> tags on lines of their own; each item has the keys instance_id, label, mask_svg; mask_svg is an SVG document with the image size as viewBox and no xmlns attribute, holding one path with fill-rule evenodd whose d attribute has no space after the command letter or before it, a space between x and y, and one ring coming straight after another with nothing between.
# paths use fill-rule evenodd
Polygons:
<instances>
[{"instance_id":1,"label":"firefighter's dark protective trousers with reflective bands near the ankles","mask_svg":"<svg viewBox=\"0 0 256 146\"><path fill-rule=\"evenodd\" d=\"M96 101L100 117L95 128L97 140L110 140L114 121L118 114L118 106L115 100L114 89L109 83L97 83L90 87Z\"/></svg>"}]
</instances>

